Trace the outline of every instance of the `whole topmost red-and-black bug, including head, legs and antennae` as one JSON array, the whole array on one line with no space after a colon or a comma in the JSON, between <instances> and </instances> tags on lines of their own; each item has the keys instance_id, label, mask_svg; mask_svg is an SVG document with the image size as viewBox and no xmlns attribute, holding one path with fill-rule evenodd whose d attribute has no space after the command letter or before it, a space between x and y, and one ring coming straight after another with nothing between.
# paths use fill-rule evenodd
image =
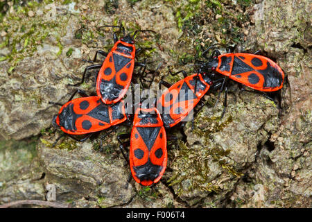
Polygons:
<instances>
[{"instance_id":1,"label":"whole topmost red-and-black bug, including head, legs and antennae","mask_svg":"<svg viewBox=\"0 0 312 222\"><path fill-rule=\"evenodd\" d=\"M91 69L100 69L96 78L96 93L101 96L103 103L110 105L120 101L130 86L132 73L135 67L144 68L141 74L144 74L146 65L144 63L135 62L135 57L142 49L135 48L135 36L138 32L153 32L151 30L137 30L133 35L125 35L123 26L102 26L102 27L118 27L123 31L123 37L119 40L114 33L114 46L109 53L98 50L94 56L101 54L105 56L103 64L91 65L87 67L83 74L83 83L85 74ZM75 84L75 85L79 85Z\"/></svg>"}]
</instances>

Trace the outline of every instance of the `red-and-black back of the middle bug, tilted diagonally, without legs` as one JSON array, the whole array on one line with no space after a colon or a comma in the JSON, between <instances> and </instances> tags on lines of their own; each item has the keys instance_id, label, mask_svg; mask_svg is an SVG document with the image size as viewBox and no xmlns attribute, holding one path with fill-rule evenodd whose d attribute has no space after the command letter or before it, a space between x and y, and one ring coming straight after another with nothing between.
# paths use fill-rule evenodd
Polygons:
<instances>
[{"instance_id":1,"label":"red-and-black back of the middle bug, tilted diagonally, without legs","mask_svg":"<svg viewBox=\"0 0 312 222\"><path fill-rule=\"evenodd\" d=\"M193 74L166 89L157 101L157 109L162 110L164 125L172 127L180 123L206 94L209 87L201 74Z\"/></svg>"}]
</instances>

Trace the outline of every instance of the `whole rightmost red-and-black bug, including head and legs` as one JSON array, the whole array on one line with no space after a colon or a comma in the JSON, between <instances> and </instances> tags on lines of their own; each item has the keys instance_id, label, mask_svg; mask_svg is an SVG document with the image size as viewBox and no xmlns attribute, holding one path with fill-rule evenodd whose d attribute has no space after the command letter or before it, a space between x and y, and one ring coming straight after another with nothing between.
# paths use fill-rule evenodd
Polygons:
<instances>
[{"instance_id":1,"label":"whole rightmost red-and-black bug, including head and legs","mask_svg":"<svg viewBox=\"0 0 312 222\"><path fill-rule=\"evenodd\" d=\"M230 78L240 83L241 90L245 92L251 92L261 94L271 101L275 101L270 97L274 92L279 92L279 105L281 103L281 95L279 89L284 85L284 79L288 83L288 79L284 72L281 70L275 62L266 58L265 56L258 55L261 51L255 53L225 53L221 54L220 51L215 50L211 57L207 57L209 49L214 46L210 46L206 49L202 56L206 58L207 62L199 61L198 73L207 74L213 83L222 82L218 99L215 107L220 99L220 93L225 90L225 99L223 101L223 114L227 107L227 80ZM220 74L220 75L218 75ZM289 84L289 83L288 83ZM246 90L245 86L248 86L257 91Z\"/></svg>"}]
</instances>

